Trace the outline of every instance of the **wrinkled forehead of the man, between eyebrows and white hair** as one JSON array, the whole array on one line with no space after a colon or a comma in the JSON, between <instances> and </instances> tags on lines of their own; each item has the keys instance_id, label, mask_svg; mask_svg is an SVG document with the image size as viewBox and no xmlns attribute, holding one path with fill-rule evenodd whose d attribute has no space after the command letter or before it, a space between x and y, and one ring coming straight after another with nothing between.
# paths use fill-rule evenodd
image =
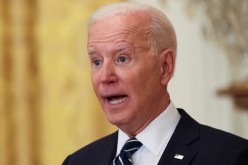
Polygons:
<instances>
[{"instance_id":1,"label":"wrinkled forehead of the man, between eyebrows and white hair","mask_svg":"<svg viewBox=\"0 0 248 165\"><path fill-rule=\"evenodd\" d=\"M94 22L88 33L88 46L94 43L148 40L148 19L139 15L114 16Z\"/></svg>"}]
</instances>

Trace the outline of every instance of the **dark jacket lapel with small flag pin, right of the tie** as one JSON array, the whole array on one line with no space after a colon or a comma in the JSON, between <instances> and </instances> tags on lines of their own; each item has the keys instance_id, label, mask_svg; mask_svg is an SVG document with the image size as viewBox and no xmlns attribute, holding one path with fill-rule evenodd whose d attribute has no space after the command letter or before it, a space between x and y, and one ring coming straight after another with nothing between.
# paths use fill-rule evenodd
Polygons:
<instances>
[{"instance_id":1,"label":"dark jacket lapel with small flag pin, right of the tie","mask_svg":"<svg viewBox=\"0 0 248 165\"><path fill-rule=\"evenodd\" d=\"M184 110L178 111L181 119L158 165L189 165L197 154L192 144L199 139L200 125Z\"/></svg>"}]
</instances>

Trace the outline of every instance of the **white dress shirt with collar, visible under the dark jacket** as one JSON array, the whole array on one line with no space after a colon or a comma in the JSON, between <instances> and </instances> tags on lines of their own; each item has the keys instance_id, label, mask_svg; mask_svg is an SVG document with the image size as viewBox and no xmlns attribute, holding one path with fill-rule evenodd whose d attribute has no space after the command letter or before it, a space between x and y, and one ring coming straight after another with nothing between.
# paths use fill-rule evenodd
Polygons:
<instances>
[{"instance_id":1,"label":"white dress shirt with collar, visible under the dark jacket","mask_svg":"<svg viewBox=\"0 0 248 165\"><path fill-rule=\"evenodd\" d=\"M170 102L169 106L136 136L143 145L133 154L133 165L157 165L179 120L180 114ZM116 155L129 139L123 131L118 132Z\"/></svg>"}]
</instances>

